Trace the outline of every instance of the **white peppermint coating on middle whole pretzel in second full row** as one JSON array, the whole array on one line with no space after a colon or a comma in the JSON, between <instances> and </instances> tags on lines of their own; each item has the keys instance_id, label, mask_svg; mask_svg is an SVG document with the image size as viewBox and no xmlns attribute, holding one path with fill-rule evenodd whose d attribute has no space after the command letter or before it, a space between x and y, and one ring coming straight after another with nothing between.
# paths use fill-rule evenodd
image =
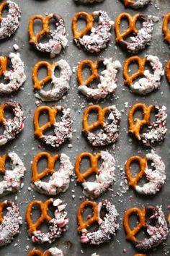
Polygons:
<instances>
[{"instance_id":1,"label":"white peppermint coating on middle whole pretzel in second full row","mask_svg":"<svg viewBox=\"0 0 170 256\"><path fill-rule=\"evenodd\" d=\"M98 100L115 93L115 89L117 88L117 72L120 67L122 67L120 61L112 61L112 58L110 58L104 59L102 62L105 69L102 70L101 75L99 76L99 84L97 85L97 88L88 88L87 85L79 85L79 91L87 98Z\"/></svg>"}]
</instances>

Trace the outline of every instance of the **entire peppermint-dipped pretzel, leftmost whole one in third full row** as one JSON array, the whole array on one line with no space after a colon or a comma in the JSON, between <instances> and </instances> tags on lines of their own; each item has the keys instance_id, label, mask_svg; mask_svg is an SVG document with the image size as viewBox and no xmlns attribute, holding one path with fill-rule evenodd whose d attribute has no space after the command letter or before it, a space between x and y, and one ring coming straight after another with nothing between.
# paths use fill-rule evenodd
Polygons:
<instances>
[{"instance_id":1,"label":"entire peppermint-dipped pretzel, leftmost whole one in third full row","mask_svg":"<svg viewBox=\"0 0 170 256\"><path fill-rule=\"evenodd\" d=\"M44 111L48 112L49 121L40 127L39 117ZM57 122L56 118L59 111L61 111L63 116L61 117L61 121ZM63 106L54 106L53 108L40 106L35 110L35 136L39 137L45 144L51 145L54 148L58 148L66 140L71 140L71 123L70 108ZM52 127L54 127L54 135L44 135L44 132Z\"/></svg>"}]
</instances>

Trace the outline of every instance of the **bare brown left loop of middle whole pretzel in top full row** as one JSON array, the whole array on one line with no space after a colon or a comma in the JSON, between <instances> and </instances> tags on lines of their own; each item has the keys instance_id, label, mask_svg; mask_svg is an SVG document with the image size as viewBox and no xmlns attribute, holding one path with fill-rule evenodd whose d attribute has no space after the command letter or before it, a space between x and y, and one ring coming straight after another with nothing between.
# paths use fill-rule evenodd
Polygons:
<instances>
[{"instance_id":1,"label":"bare brown left loop of middle whole pretzel in top full row","mask_svg":"<svg viewBox=\"0 0 170 256\"><path fill-rule=\"evenodd\" d=\"M84 19L86 20L86 27L83 30L78 31L77 22L80 17L84 17ZM86 33L88 33L91 30L93 24L94 14L89 14L87 12L77 12L73 17L72 21L73 38L82 38L84 35L86 35Z\"/></svg>"}]
</instances>

